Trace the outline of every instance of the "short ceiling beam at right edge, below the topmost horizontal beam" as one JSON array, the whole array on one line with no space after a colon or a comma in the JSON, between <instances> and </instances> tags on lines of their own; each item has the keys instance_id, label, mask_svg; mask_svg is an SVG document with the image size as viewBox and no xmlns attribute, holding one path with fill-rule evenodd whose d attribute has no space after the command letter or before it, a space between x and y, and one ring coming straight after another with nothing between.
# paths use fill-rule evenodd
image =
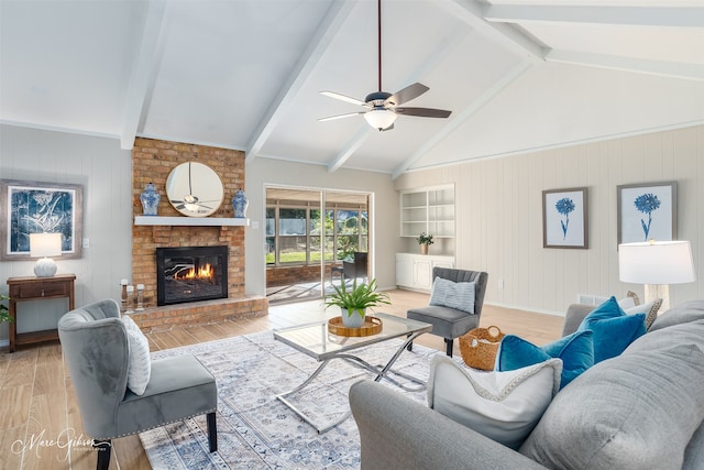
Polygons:
<instances>
[{"instance_id":1,"label":"short ceiling beam at right edge, below the topmost horizontal beam","mask_svg":"<svg viewBox=\"0 0 704 470\"><path fill-rule=\"evenodd\" d=\"M547 55L546 59L549 62L559 62L587 67L607 68L612 70L657 75L660 77L704 81L704 64L651 61L645 58L623 57L606 54L591 54L574 51L551 51Z\"/></svg>"}]
</instances>

